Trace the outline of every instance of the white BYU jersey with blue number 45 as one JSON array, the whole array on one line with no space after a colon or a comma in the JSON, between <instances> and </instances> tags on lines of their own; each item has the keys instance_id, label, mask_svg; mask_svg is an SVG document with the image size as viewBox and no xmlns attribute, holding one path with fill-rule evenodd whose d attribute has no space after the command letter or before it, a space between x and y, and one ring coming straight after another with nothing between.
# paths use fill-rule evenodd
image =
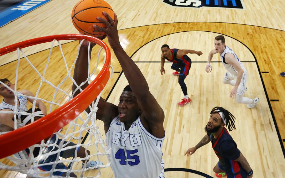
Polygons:
<instances>
[{"instance_id":1,"label":"white BYU jersey with blue number 45","mask_svg":"<svg viewBox=\"0 0 285 178\"><path fill-rule=\"evenodd\" d=\"M115 178L164 177L163 138L156 138L143 127L140 117L129 130L117 116L106 133L111 148L111 168Z\"/></svg>"}]
</instances>

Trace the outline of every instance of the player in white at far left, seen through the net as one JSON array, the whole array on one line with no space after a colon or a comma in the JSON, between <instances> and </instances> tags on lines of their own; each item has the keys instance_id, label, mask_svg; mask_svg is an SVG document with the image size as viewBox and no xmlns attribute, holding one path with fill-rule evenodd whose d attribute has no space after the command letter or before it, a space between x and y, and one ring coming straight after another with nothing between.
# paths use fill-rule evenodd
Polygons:
<instances>
[{"instance_id":1,"label":"player in white at far left, seen through the net","mask_svg":"<svg viewBox=\"0 0 285 178\"><path fill-rule=\"evenodd\" d=\"M13 91L15 90L15 86L7 79L0 79L0 81L10 87ZM4 86L0 83L0 95L3 97L3 101L0 103L0 111L14 111L15 109L15 95L12 90ZM18 112L25 112L27 111L27 101L33 103L34 99L27 97L31 96L34 97L34 94L29 90L20 90L17 91L18 98L17 98L17 109ZM46 115L47 109L44 103L41 100L36 100L35 103L36 107L40 108L40 110ZM16 114L17 119L17 128L23 127L24 124L20 120L21 113ZM0 113L0 124L7 125L9 127L14 128L14 114L13 113Z\"/></svg>"}]
</instances>

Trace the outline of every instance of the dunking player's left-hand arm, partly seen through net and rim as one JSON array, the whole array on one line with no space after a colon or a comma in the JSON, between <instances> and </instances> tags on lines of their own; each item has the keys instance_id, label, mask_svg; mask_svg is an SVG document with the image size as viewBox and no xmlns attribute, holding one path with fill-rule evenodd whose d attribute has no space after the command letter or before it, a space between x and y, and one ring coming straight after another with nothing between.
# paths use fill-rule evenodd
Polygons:
<instances>
[{"instance_id":1,"label":"dunking player's left-hand arm, partly seen through net and rim","mask_svg":"<svg viewBox=\"0 0 285 178\"><path fill-rule=\"evenodd\" d=\"M101 39L104 38L105 37ZM94 46L95 43L91 43L90 53ZM79 86L82 82L84 82L87 79L87 77L88 77L88 42L84 41L80 47L78 59L75 63L73 78L76 84ZM81 86L81 89L84 90L86 86L88 86L87 82L83 86ZM75 84L73 84L72 91L74 92L75 90L76 86ZM80 90L77 90L74 96L78 95L78 93L80 93ZM96 118L104 122L104 129L106 131L110 126L111 119L115 118L118 115L117 106L112 103L106 102L102 97L100 97L97 107L98 111L96 112ZM86 108L85 111L90 112L89 107Z\"/></svg>"}]
</instances>

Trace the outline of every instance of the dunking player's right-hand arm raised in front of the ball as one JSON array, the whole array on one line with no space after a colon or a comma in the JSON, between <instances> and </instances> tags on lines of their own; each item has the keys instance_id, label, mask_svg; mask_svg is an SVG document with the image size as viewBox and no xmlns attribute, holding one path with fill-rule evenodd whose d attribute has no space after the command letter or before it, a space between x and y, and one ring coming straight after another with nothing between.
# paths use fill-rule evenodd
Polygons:
<instances>
[{"instance_id":1,"label":"dunking player's right-hand arm raised in front of the ball","mask_svg":"<svg viewBox=\"0 0 285 178\"><path fill-rule=\"evenodd\" d=\"M114 20L112 20L107 13L103 12L103 15L108 19L108 21L100 17L97 17L97 19L105 23L107 28L101 28L96 25L94 25L94 27L99 28L101 31L107 34L109 44L114 50L114 53L122 66L127 81L132 88L132 92L137 98L138 104L143 111L140 117L143 125L149 127L149 131L151 134L153 134L153 136L161 138L164 136L163 110L150 93L148 83L142 72L133 62L133 60L126 54L120 44L117 30L117 15L115 14Z\"/></svg>"}]
</instances>

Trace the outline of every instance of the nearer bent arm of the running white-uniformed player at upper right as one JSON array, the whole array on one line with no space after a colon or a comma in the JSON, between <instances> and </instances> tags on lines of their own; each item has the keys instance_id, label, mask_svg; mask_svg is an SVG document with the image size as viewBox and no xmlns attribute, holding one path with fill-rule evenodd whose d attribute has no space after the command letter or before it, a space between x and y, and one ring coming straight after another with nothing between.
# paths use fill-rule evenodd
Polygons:
<instances>
[{"instance_id":1,"label":"nearer bent arm of the running white-uniformed player at upper right","mask_svg":"<svg viewBox=\"0 0 285 178\"><path fill-rule=\"evenodd\" d=\"M238 89L238 86L241 83L241 78L243 75L243 70L241 68L241 65L238 63L238 61L235 59L235 56L231 53L227 53L225 56L225 62L226 63L230 63L234 69L237 71L237 77L236 77L236 85L234 86L234 88L231 90L231 94L230 97L231 98L235 98L236 97L236 92Z\"/></svg>"}]
</instances>

